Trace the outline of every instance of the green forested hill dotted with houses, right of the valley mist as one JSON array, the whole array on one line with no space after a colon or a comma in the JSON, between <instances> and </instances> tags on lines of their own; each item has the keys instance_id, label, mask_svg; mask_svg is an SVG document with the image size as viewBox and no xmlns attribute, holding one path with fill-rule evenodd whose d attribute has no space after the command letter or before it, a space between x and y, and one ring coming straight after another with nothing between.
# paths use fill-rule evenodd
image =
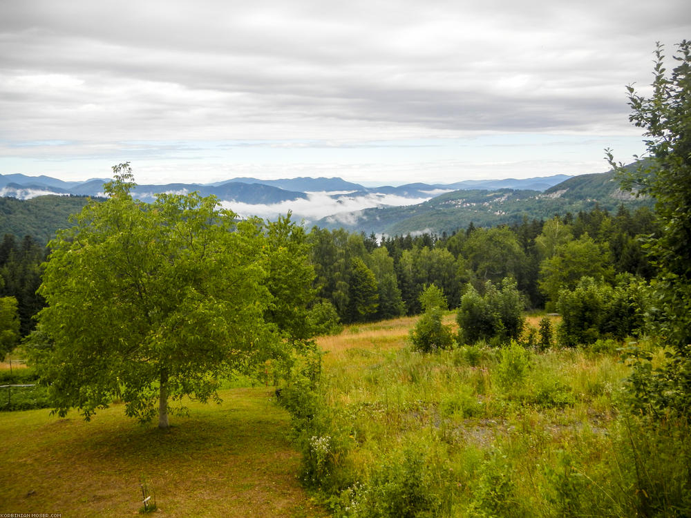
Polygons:
<instances>
[{"instance_id":1,"label":"green forested hill dotted with houses, right of the valley mist","mask_svg":"<svg viewBox=\"0 0 691 518\"><path fill-rule=\"evenodd\" d=\"M408 233L442 233L465 228L513 224L523 217L547 219L556 214L589 211L596 205L612 211L619 205L652 206L647 198L621 191L614 173L579 175L552 186L545 192L515 189L453 191L427 202L406 207L377 207L323 218L320 227L389 236Z\"/></svg>"}]
</instances>

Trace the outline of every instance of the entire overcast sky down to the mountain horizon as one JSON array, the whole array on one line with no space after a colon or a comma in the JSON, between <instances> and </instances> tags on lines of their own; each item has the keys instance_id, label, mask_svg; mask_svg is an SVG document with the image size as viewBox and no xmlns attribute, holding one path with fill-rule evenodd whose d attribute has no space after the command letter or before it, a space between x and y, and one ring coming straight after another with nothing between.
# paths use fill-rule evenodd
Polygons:
<instances>
[{"instance_id":1,"label":"entire overcast sky down to the mountain horizon","mask_svg":"<svg viewBox=\"0 0 691 518\"><path fill-rule=\"evenodd\" d=\"M607 169L688 0L0 0L0 173L369 184Z\"/></svg>"}]
</instances>

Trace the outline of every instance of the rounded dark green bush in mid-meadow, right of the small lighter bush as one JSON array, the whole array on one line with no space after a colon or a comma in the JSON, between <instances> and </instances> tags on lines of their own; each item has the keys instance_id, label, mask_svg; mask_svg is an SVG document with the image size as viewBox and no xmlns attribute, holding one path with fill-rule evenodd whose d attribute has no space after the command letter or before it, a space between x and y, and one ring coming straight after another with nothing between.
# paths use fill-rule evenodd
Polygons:
<instances>
[{"instance_id":1,"label":"rounded dark green bush in mid-meadow, right of the small lighter bush","mask_svg":"<svg viewBox=\"0 0 691 518\"><path fill-rule=\"evenodd\" d=\"M515 280L504 278L497 289L491 281L484 285L484 296L468 286L461 298L456 315L460 343L473 344L479 340L507 343L518 340L523 332L525 307Z\"/></svg>"}]
</instances>

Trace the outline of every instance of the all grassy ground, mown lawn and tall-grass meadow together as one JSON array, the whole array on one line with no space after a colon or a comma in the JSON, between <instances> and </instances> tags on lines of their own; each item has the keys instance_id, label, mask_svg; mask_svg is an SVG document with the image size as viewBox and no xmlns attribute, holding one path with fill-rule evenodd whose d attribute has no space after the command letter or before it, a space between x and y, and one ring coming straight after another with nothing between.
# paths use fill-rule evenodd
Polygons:
<instances>
[{"instance_id":1,"label":"all grassy ground, mown lawn and tall-grass meadow together","mask_svg":"<svg viewBox=\"0 0 691 518\"><path fill-rule=\"evenodd\" d=\"M144 477L170 517L684 515L688 423L625 419L621 344L423 354L416 321L321 337L281 405L273 387L226 388L169 432L117 403L90 423L0 412L0 512L138 515Z\"/></svg>"}]
</instances>

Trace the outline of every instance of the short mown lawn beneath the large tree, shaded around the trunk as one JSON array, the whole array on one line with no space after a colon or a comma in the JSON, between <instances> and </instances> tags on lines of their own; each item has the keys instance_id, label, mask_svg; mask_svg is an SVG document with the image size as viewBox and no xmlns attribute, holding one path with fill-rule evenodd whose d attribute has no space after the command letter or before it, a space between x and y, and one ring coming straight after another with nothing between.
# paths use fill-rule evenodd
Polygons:
<instances>
[{"instance_id":1,"label":"short mown lawn beneath the large tree, shaded around the trunk","mask_svg":"<svg viewBox=\"0 0 691 518\"><path fill-rule=\"evenodd\" d=\"M189 403L169 432L139 425L122 405L86 423L47 410L0 413L0 512L122 517L142 507L146 478L167 517L318 517L296 479L289 417L265 388Z\"/></svg>"}]
</instances>

